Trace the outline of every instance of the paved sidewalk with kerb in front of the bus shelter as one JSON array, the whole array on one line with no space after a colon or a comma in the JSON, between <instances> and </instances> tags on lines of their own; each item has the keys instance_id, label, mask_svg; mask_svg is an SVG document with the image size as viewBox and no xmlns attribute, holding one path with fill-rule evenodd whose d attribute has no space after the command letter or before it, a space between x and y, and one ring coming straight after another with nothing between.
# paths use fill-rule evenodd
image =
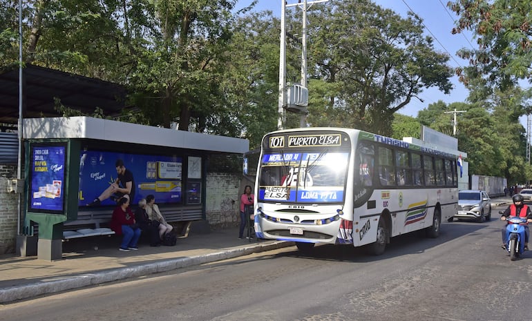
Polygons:
<instances>
[{"instance_id":1,"label":"paved sidewalk with kerb in front of the bus shelter","mask_svg":"<svg viewBox=\"0 0 532 321\"><path fill-rule=\"evenodd\" d=\"M187 266L269 251L292 242L238 239L238 228L194 233L175 246L118 251L121 237L86 237L63 243L63 260L0 255L0 304L83 286L171 271Z\"/></svg>"}]
</instances>

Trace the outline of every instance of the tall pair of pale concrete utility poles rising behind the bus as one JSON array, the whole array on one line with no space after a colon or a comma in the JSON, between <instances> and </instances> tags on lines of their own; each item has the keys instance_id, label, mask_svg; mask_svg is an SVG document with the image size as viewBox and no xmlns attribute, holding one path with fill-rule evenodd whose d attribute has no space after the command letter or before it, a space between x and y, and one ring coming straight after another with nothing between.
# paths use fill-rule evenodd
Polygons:
<instances>
[{"instance_id":1,"label":"tall pair of pale concrete utility poles rising behind the bus","mask_svg":"<svg viewBox=\"0 0 532 321\"><path fill-rule=\"evenodd\" d=\"M278 99L278 119L277 129L283 129L286 122L285 107L287 106L286 95L286 27L285 27L285 12L286 7L294 7L303 5L303 29L302 33L302 49L301 49L301 86L307 88L307 10L314 3L327 2L329 0L315 0L307 2L307 0L298 0L298 3L286 4L285 0L281 0L281 46L279 50L279 99ZM310 6L307 6L310 5ZM306 106L306 105L305 105ZM299 125L305 127L305 113L301 113Z\"/></svg>"}]
</instances>

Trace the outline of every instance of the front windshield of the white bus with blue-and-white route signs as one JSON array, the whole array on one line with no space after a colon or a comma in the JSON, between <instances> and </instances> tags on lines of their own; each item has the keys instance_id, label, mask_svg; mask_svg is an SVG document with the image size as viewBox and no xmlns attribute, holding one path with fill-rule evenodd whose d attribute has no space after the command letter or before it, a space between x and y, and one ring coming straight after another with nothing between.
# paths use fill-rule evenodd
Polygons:
<instances>
[{"instance_id":1,"label":"front windshield of the white bus with blue-and-white route signs","mask_svg":"<svg viewBox=\"0 0 532 321\"><path fill-rule=\"evenodd\" d=\"M349 153L265 153L260 159L260 201L343 202Z\"/></svg>"}]
</instances>

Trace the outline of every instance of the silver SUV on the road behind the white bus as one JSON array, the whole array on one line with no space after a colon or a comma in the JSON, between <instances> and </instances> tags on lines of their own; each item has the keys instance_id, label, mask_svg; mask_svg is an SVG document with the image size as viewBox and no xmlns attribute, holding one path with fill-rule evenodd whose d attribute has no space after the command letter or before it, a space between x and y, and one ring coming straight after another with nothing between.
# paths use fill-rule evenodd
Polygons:
<instances>
[{"instance_id":1,"label":"silver SUV on the road behind the white bus","mask_svg":"<svg viewBox=\"0 0 532 321\"><path fill-rule=\"evenodd\" d=\"M486 191L464 190L458 192L458 211L455 218L484 222L491 220L491 200ZM449 219L449 222L453 217Z\"/></svg>"}]
</instances>

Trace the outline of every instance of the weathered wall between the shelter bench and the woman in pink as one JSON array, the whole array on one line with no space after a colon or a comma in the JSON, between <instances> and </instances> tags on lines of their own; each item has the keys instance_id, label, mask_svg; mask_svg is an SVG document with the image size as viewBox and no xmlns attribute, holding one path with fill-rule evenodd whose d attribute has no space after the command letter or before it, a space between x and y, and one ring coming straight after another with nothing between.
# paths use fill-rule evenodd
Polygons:
<instances>
[{"instance_id":1,"label":"weathered wall between the shelter bench and the woman in pink","mask_svg":"<svg viewBox=\"0 0 532 321\"><path fill-rule=\"evenodd\" d=\"M205 213L211 228L240 224L240 174L208 173Z\"/></svg>"}]
</instances>

